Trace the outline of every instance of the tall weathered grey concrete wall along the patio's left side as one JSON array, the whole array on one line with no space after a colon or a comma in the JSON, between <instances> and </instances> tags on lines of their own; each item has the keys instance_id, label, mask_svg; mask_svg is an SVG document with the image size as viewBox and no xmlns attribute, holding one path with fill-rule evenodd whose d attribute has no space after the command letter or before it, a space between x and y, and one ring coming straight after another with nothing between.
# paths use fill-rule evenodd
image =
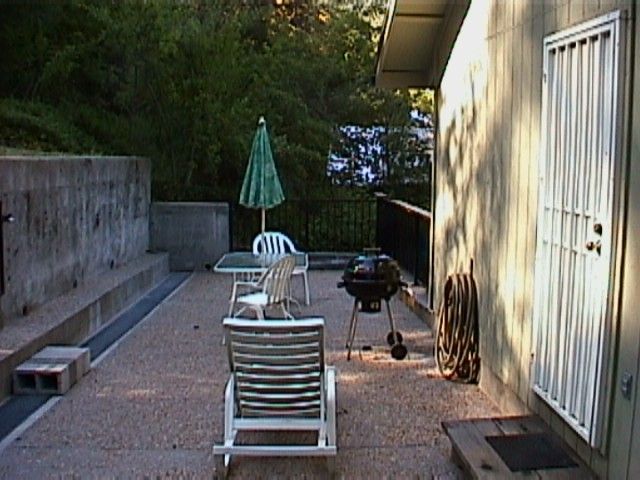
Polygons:
<instances>
[{"instance_id":1,"label":"tall weathered grey concrete wall along the patio's left side","mask_svg":"<svg viewBox=\"0 0 640 480\"><path fill-rule=\"evenodd\" d=\"M132 157L0 157L5 293L19 317L145 252L150 162Z\"/></svg>"}]
</instances>

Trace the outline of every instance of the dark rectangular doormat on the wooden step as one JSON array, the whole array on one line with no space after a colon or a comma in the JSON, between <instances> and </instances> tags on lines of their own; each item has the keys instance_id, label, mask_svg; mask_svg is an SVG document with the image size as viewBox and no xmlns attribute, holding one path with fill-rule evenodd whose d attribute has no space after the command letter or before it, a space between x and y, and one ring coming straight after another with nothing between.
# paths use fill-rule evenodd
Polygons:
<instances>
[{"instance_id":1,"label":"dark rectangular doormat on the wooden step","mask_svg":"<svg viewBox=\"0 0 640 480\"><path fill-rule=\"evenodd\" d=\"M578 466L548 433L485 438L512 472Z\"/></svg>"}]
</instances>

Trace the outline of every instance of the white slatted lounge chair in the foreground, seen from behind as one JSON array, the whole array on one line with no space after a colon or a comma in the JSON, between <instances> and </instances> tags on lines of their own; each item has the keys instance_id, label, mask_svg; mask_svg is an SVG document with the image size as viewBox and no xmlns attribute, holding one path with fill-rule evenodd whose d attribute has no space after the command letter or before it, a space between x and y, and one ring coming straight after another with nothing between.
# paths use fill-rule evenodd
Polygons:
<instances>
[{"instance_id":1,"label":"white slatted lounge chair in the foreground, seen from behind","mask_svg":"<svg viewBox=\"0 0 640 480\"><path fill-rule=\"evenodd\" d=\"M226 476L232 455L327 456L336 445L334 367L324 359L324 319L223 321L231 375L224 394L224 442L213 446ZM315 431L315 444L236 445L240 431ZM223 460L223 461L222 461Z\"/></svg>"}]
</instances>

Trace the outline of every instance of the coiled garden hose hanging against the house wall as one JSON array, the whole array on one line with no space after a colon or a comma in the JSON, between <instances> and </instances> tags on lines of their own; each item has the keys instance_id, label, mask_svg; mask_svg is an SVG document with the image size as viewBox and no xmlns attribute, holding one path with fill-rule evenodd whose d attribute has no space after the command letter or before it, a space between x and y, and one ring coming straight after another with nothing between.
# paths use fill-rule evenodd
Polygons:
<instances>
[{"instance_id":1,"label":"coiled garden hose hanging against the house wall","mask_svg":"<svg viewBox=\"0 0 640 480\"><path fill-rule=\"evenodd\" d=\"M449 380L477 383L478 341L478 291L473 275L449 275L436 330L435 357L440 373Z\"/></svg>"}]
</instances>

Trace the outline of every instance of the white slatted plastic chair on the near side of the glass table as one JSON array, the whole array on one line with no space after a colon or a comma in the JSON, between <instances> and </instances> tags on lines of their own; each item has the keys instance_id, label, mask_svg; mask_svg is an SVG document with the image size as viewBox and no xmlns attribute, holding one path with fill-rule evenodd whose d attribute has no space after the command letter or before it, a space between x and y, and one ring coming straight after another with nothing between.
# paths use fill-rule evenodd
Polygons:
<instances>
[{"instance_id":1,"label":"white slatted plastic chair on the near side of the glass table","mask_svg":"<svg viewBox=\"0 0 640 480\"><path fill-rule=\"evenodd\" d=\"M250 309L255 312L256 317L264 319L267 308L279 306L285 317L293 319L293 315L289 313L289 283L294 266L295 259L286 255L276 260L257 281L234 282L229 314L237 317ZM243 289L248 291L240 293ZM240 309L233 313L236 306Z\"/></svg>"}]
</instances>

